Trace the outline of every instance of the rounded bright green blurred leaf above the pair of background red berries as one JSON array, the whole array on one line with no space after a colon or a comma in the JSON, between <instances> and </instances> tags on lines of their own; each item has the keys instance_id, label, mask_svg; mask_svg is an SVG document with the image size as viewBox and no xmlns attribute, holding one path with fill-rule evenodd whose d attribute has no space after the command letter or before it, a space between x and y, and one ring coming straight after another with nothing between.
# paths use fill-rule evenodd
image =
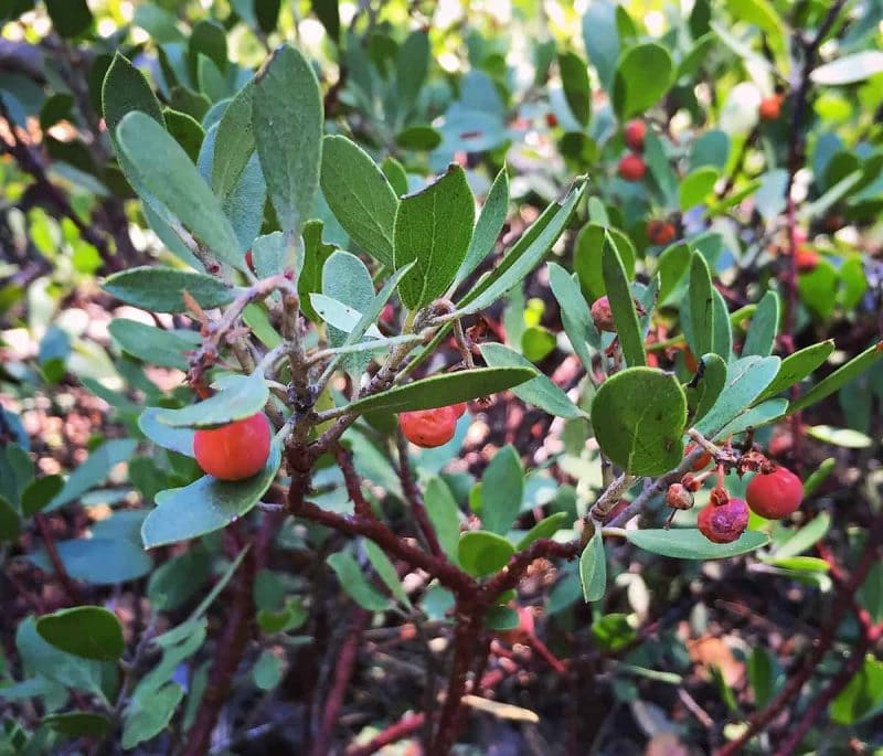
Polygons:
<instances>
[{"instance_id":1,"label":"rounded bright green blurred leaf above the pair of background red berries","mask_svg":"<svg viewBox=\"0 0 883 756\"><path fill-rule=\"evenodd\" d=\"M671 86L674 64L661 44L648 42L626 50L617 61L614 109L630 118L656 105Z\"/></svg>"}]
</instances>

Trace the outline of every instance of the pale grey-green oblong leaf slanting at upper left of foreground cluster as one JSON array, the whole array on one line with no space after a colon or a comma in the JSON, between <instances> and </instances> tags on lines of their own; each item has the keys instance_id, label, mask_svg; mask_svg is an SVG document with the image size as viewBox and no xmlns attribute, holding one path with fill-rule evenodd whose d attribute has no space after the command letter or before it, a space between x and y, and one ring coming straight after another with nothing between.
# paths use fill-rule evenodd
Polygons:
<instances>
[{"instance_id":1,"label":"pale grey-green oblong leaf slanting at upper left of foreground cluster","mask_svg":"<svg viewBox=\"0 0 883 756\"><path fill-rule=\"evenodd\" d=\"M116 130L117 141L150 201L158 200L219 259L244 269L240 243L217 198L183 148L150 116L132 110ZM162 160L157 160L161 155Z\"/></svg>"}]
</instances>

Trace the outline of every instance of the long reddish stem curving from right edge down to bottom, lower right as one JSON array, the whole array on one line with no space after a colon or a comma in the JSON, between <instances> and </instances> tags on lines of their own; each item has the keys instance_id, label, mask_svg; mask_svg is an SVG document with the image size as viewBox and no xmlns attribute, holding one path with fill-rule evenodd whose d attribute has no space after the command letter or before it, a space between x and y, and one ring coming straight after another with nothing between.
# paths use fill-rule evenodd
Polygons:
<instances>
[{"instance_id":1,"label":"long reddish stem curving from right edge down to bottom, lower right","mask_svg":"<svg viewBox=\"0 0 883 756\"><path fill-rule=\"evenodd\" d=\"M812 677L816 668L819 666L819 663L821 663L825 654L828 653L834 640L837 639L837 630L840 627L840 624L843 621L843 618L847 616L847 613L852 608L852 599L855 596L855 592L862 586L864 579L868 577L868 573L876 562L877 549L882 540L883 518L877 519L874 522L874 526L868 534L864 553L862 554L861 560L859 561L859 564L852 573L849 582L845 583L838 592L837 599L834 600L833 608L831 609L830 619L819 635L812 652L807 658L800 671L798 671L790 679L788 684L781 689L779 694L773 699L773 701L769 702L766 709L757 712L753 717L751 717L748 721L748 726L745 728L745 732L743 732L742 735L714 752L714 756L733 756L734 754L740 753L742 747L748 743L748 741L764 731L785 710L791 699L800 693L806 682L810 679L810 677ZM863 656L863 652L860 656ZM836 694L837 693L834 693L834 695ZM809 722L807 726L811 726L811 724L812 723Z\"/></svg>"}]
</instances>

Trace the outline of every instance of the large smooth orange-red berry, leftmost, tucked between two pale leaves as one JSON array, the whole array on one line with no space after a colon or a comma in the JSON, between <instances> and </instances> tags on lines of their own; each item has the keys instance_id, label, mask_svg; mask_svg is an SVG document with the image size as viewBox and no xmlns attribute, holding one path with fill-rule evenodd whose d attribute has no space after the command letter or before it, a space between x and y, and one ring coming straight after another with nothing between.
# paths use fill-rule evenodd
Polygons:
<instances>
[{"instance_id":1,"label":"large smooth orange-red berry, leftmost, tucked between two pale leaves","mask_svg":"<svg viewBox=\"0 0 883 756\"><path fill-rule=\"evenodd\" d=\"M243 480L264 468L272 439L269 420L259 412L220 428L196 430L193 451L203 472L219 480Z\"/></svg>"}]
</instances>

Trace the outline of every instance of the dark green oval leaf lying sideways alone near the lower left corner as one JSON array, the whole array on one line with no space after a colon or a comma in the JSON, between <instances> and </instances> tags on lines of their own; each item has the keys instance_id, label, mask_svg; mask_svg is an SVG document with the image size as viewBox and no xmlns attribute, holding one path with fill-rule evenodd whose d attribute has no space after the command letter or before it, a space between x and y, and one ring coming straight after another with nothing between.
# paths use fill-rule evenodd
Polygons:
<instances>
[{"instance_id":1,"label":"dark green oval leaf lying sideways alone near the lower left corner","mask_svg":"<svg viewBox=\"0 0 883 756\"><path fill-rule=\"evenodd\" d=\"M99 606L77 606L40 617L36 631L47 643L83 659L116 661L126 650L117 616Z\"/></svg>"}]
</instances>

